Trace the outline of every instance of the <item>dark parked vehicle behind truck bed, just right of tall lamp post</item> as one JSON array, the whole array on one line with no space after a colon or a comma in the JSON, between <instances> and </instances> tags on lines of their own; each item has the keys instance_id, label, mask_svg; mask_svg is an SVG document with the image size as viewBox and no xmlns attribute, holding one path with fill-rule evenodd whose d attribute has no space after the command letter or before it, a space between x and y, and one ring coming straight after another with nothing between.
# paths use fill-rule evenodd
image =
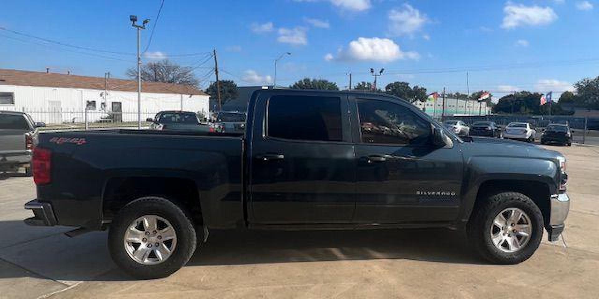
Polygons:
<instances>
[{"instance_id":1,"label":"dark parked vehicle behind truck bed, just right of tall lamp post","mask_svg":"<svg viewBox=\"0 0 599 299\"><path fill-rule=\"evenodd\" d=\"M198 116L187 111L161 111L154 118L147 118L153 130L193 130L208 132L210 126L202 124Z\"/></svg>"}]
</instances>

